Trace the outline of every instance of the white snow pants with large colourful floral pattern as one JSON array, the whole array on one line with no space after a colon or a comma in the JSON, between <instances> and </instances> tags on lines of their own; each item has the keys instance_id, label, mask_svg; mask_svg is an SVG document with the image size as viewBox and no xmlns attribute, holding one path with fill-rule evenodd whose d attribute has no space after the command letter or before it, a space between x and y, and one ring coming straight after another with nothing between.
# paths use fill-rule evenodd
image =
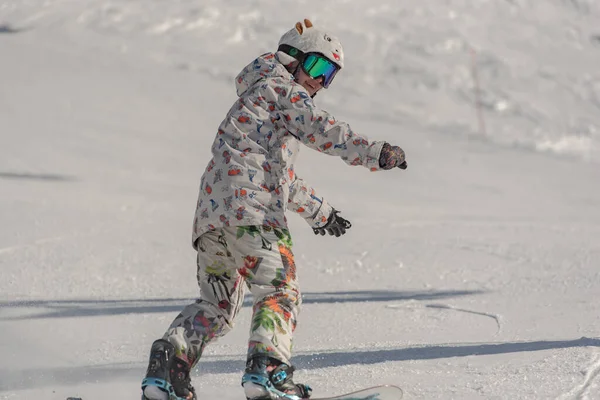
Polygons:
<instances>
[{"instance_id":1,"label":"white snow pants with large colourful floral pattern","mask_svg":"<svg viewBox=\"0 0 600 400\"><path fill-rule=\"evenodd\" d=\"M292 240L285 229L226 227L198 239L200 298L164 335L176 356L196 365L206 345L233 326L246 288L254 297L248 358L263 354L290 364L301 298Z\"/></svg>"}]
</instances>

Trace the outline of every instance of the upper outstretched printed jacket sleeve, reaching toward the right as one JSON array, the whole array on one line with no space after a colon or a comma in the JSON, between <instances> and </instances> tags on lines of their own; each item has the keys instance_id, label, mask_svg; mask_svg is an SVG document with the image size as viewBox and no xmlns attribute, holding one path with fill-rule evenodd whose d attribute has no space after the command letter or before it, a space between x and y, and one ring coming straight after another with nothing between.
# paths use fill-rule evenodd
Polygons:
<instances>
[{"instance_id":1,"label":"upper outstretched printed jacket sleeve, reaching toward the right","mask_svg":"<svg viewBox=\"0 0 600 400\"><path fill-rule=\"evenodd\" d=\"M333 115L315 106L306 89L295 82L276 85L272 89L278 95L277 117L303 144L341 157L349 165L381 170L379 155L385 142L369 140L355 133L347 123L337 121Z\"/></svg>"}]
</instances>

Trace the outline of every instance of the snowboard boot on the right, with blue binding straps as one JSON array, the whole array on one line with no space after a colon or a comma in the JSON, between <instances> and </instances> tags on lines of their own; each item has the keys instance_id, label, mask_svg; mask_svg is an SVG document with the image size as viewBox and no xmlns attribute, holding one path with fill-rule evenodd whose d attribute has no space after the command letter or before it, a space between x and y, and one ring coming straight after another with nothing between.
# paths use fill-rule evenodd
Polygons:
<instances>
[{"instance_id":1,"label":"snowboard boot on the right, with blue binding straps","mask_svg":"<svg viewBox=\"0 0 600 400\"><path fill-rule=\"evenodd\" d=\"M254 356L246 364L242 386L247 400L308 399L312 389L294 383L294 367L267 356Z\"/></svg>"}]
</instances>

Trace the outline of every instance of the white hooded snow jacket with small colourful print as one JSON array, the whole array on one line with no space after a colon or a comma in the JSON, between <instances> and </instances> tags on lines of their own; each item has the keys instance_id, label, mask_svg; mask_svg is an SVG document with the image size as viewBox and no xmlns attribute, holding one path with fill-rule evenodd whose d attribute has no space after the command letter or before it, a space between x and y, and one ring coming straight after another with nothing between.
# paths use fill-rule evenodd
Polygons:
<instances>
[{"instance_id":1,"label":"white hooded snow jacket with small colourful print","mask_svg":"<svg viewBox=\"0 0 600 400\"><path fill-rule=\"evenodd\" d=\"M236 88L239 99L219 126L213 157L200 181L193 243L221 227L286 228L286 210L300 214L312 227L323 226L332 208L296 176L300 144L349 165L381 169L384 142L354 133L347 123L317 108L274 54L246 66Z\"/></svg>"}]
</instances>

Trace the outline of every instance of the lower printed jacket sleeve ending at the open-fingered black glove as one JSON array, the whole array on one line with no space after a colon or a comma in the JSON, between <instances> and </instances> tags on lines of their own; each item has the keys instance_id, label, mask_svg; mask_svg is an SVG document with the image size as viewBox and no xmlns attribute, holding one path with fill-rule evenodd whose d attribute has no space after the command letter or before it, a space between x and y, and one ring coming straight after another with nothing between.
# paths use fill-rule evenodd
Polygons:
<instances>
[{"instance_id":1,"label":"lower printed jacket sleeve ending at the open-fingered black glove","mask_svg":"<svg viewBox=\"0 0 600 400\"><path fill-rule=\"evenodd\" d=\"M290 184L287 208L298 213L313 228L325 226L333 210L325 199L318 197L315 190L297 176Z\"/></svg>"}]
</instances>

